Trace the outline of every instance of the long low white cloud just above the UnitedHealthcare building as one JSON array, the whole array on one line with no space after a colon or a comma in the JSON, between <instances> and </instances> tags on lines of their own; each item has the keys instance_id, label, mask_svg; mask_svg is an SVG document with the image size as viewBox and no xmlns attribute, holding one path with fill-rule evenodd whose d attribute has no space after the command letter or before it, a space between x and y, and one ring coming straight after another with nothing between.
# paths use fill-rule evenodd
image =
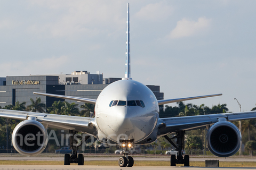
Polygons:
<instances>
[{"instance_id":1,"label":"long low white cloud just above the UnitedHealthcare building","mask_svg":"<svg viewBox=\"0 0 256 170\"><path fill-rule=\"evenodd\" d=\"M67 66L70 58L67 56L43 58L30 62L12 61L0 64L0 72L9 75L29 75L29 74L54 74ZM7 76L7 75L6 75Z\"/></svg>"}]
</instances>

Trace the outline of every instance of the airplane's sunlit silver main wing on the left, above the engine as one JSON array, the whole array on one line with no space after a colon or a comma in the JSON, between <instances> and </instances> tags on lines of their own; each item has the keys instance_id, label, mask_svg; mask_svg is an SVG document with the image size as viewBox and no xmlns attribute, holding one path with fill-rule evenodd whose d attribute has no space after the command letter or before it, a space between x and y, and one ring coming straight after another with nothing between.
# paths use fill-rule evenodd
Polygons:
<instances>
[{"instance_id":1,"label":"airplane's sunlit silver main wing on the left, above the engine","mask_svg":"<svg viewBox=\"0 0 256 170\"><path fill-rule=\"evenodd\" d=\"M75 130L89 134L93 134L94 132L93 127L90 126L90 122L94 121L94 118L92 117L66 116L0 109L0 117L13 118L16 120L27 120L29 116L36 117L38 122L41 122L50 128Z\"/></svg>"}]
</instances>

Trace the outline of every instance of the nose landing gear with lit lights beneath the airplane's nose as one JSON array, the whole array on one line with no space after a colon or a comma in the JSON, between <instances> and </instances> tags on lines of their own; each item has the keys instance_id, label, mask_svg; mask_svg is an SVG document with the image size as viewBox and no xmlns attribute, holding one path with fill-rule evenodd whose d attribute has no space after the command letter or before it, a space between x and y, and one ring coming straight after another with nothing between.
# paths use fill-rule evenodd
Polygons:
<instances>
[{"instance_id":1,"label":"nose landing gear with lit lights beneath the airplane's nose","mask_svg":"<svg viewBox=\"0 0 256 170\"><path fill-rule=\"evenodd\" d=\"M134 139L131 140L120 140L120 145L123 147L123 154L124 156L121 156L118 160L118 164L121 167L132 167L134 164L134 160L131 156L128 156L130 154L130 148L134 145Z\"/></svg>"}]
</instances>

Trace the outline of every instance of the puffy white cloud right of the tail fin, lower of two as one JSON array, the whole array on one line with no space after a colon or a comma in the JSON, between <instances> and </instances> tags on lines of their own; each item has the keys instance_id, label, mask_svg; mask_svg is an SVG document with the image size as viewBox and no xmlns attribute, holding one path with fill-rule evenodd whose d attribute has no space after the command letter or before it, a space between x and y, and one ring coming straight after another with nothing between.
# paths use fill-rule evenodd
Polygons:
<instances>
[{"instance_id":1,"label":"puffy white cloud right of the tail fin, lower of two","mask_svg":"<svg viewBox=\"0 0 256 170\"><path fill-rule=\"evenodd\" d=\"M209 29L210 24L211 19L206 19L204 17L198 18L197 21L190 21L184 18L177 22L177 26L171 31L168 37L175 39L198 35Z\"/></svg>"}]
</instances>

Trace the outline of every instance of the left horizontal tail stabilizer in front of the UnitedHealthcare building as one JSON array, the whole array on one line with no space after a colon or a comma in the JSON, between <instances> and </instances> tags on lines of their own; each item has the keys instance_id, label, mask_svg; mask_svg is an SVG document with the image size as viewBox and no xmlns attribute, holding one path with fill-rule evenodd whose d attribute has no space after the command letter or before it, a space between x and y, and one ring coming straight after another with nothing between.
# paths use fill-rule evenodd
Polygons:
<instances>
[{"instance_id":1,"label":"left horizontal tail stabilizer in front of the UnitedHealthcare building","mask_svg":"<svg viewBox=\"0 0 256 170\"><path fill-rule=\"evenodd\" d=\"M49 97L56 97L56 98L61 98L61 99L81 101L81 102L90 103L90 104L95 104L96 103L96 99L88 99L88 98L72 97L72 96L62 96L62 95L54 95L54 94L44 94L42 92L34 92L33 94L42 95L42 96L49 96Z\"/></svg>"}]
</instances>

